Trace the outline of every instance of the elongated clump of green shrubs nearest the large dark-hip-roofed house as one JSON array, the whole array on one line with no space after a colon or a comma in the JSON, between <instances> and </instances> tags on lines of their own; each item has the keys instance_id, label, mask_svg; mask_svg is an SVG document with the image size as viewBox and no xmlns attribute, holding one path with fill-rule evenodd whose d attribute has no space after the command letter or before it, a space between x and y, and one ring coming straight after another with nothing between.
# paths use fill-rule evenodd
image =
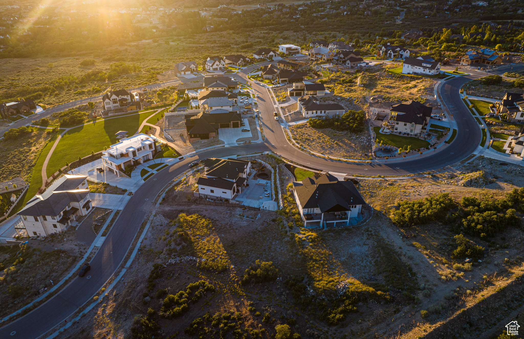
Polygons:
<instances>
[{"instance_id":1,"label":"elongated clump of green shrubs nearest the large dark-hip-roofed house","mask_svg":"<svg viewBox=\"0 0 524 339\"><path fill-rule=\"evenodd\" d=\"M401 200L399 210L391 217L397 225L417 225L443 220L447 212L456 206L448 193L415 201Z\"/></svg>"}]
</instances>

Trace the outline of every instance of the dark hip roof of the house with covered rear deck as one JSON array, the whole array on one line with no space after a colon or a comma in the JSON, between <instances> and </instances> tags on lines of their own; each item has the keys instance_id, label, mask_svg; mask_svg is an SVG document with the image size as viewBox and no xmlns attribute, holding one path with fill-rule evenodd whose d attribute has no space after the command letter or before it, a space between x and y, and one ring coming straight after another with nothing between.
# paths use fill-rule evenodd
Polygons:
<instances>
[{"instance_id":1,"label":"dark hip roof of the house with covered rear deck","mask_svg":"<svg viewBox=\"0 0 524 339\"><path fill-rule=\"evenodd\" d=\"M348 211L350 205L365 204L351 181L339 181L329 173L305 178L294 190L302 209L318 207L322 213Z\"/></svg>"}]
</instances>

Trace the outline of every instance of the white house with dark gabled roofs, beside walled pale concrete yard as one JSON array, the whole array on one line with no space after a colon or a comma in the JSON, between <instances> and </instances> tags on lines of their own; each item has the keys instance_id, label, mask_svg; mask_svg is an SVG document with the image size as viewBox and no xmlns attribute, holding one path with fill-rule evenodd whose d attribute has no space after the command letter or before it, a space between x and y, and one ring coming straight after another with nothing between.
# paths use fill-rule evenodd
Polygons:
<instances>
[{"instance_id":1,"label":"white house with dark gabled roofs, beside walled pale concrete yard","mask_svg":"<svg viewBox=\"0 0 524 339\"><path fill-rule=\"evenodd\" d=\"M208 158L204 162L204 174L196 182L194 196L231 200L246 187L251 162L237 159Z\"/></svg>"}]
</instances>

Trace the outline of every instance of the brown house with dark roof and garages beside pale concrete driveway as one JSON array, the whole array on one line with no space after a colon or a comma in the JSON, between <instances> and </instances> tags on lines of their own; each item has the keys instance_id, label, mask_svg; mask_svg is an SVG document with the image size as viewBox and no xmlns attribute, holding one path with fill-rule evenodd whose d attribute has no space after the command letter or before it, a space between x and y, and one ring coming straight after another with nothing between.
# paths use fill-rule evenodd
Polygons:
<instances>
[{"instance_id":1,"label":"brown house with dark roof and garages beside pale concrete driveway","mask_svg":"<svg viewBox=\"0 0 524 339\"><path fill-rule=\"evenodd\" d=\"M238 128L241 126L242 117L238 112L186 114L185 132L189 142L196 140L216 138L219 128Z\"/></svg>"}]
</instances>

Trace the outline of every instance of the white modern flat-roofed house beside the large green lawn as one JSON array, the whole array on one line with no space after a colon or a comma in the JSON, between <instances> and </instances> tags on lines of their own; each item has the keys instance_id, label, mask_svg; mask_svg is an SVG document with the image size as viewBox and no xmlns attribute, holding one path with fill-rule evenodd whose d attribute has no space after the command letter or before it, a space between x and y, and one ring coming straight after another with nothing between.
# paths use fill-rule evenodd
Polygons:
<instances>
[{"instance_id":1,"label":"white modern flat-roofed house beside the large green lawn","mask_svg":"<svg viewBox=\"0 0 524 339\"><path fill-rule=\"evenodd\" d=\"M125 136L126 133L121 131L117 135ZM144 133L122 138L102 152L103 169L123 177L126 168L155 159L157 153L161 151L160 147L157 138Z\"/></svg>"}]
</instances>

